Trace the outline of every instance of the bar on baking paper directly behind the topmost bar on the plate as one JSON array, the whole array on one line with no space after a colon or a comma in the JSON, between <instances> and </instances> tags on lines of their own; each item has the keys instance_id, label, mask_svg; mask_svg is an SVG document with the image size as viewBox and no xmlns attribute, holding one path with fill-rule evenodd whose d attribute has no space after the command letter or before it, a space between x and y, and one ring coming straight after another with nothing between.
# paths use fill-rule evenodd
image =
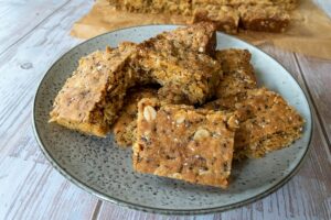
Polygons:
<instances>
[{"instance_id":1,"label":"bar on baking paper directly behind the topmost bar on the plate","mask_svg":"<svg viewBox=\"0 0 331 220\"><path fill-rule=\"evenodd\" d=\"M232 7L210 4L194 10L192 23L203 21L214 23L217 31L236 34L239 24L239 13Z\"/></svg>"}]
</instances>

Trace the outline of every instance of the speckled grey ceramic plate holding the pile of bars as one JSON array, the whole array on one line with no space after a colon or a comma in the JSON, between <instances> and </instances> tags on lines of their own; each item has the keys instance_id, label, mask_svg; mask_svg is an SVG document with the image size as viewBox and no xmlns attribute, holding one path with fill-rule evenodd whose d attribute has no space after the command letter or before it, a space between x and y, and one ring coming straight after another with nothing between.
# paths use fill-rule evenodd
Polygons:
<instances>
[{"instance_id":1,"label":"speckled grey ceramic plate holding the pile of bars","mask_svg":"<svg viewBox=\"0 0 331 220\"><path fill-rule=\"evenodd\" d=\"M291 75L270 56L233 36L217 33L217 47L247 48L260 85L281 94L305 117L302 139L290 147L260 160L248 160L233 168L232 184L222 190L141 175L131 166L131 150L116 146L113 136L86 136L47 123L57 91L76 68L77 61L106 45L141 42L174 29L150 25L110 32L86 41L64 54L42 79L34 100L35 135L45 156L67 179L107 201L130 208L175 215L223 211L255 201L282 186L307 155L311 138L311 113L306 96Z\"/></svg>"}]
</instances>

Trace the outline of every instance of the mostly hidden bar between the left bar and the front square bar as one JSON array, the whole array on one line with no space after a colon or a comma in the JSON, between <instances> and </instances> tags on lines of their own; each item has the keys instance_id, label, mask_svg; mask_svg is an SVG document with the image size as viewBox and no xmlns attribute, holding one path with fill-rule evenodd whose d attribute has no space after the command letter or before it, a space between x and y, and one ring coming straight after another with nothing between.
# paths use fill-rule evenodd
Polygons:
<instances>
[{"instance_id":1,"label":"mostly hidden bar between the left bar and the front square bar","mask_svg":"<svg viewBox=\"0 0 331 220\"><path fill-rule=\"evenodd\" d=\"M142 98L157 97L154 88L130 89L125 98L125 105L119 118L113 127L116 143L119 146L131 146L136 139L138 102Z\"/></svg>"}]
</instances>

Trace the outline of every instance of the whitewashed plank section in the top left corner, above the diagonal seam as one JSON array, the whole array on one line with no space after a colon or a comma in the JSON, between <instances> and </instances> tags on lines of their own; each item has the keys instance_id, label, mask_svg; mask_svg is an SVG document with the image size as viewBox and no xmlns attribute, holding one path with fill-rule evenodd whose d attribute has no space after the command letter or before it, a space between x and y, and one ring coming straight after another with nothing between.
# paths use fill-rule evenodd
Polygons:
<instances>
[{"instance_id":1,"label":"whitewashed plank section in the top left corner, above the diagonal seam","mask_svg":"<svg viewBox=\"0 0 331 220\"><path fill-rule=\"evenodd\" d=\"M68 1L0 1L0 53L35 29Z\"/></svg>"}]
</instances>

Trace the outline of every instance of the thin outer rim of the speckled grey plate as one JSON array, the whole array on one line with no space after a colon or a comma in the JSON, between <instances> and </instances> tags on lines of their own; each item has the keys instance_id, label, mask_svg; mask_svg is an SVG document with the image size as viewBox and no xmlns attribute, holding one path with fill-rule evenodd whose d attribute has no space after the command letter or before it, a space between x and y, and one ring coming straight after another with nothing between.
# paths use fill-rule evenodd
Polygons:
<instances>
[{"instance_id":1,"label":"thin outer rim of the speckled grey plate","mask_svg":"<svg viewBox=\"0 0 331 220\"><path fill-rule=\"evenodd\" d=\"M168 24L166 24L167 26L170 26ZM138 25L138 26L130 26L130 28L125 28L125 29L118 29L118 30L115 30L115 31L111 31L111 32L107 32L107 33L104 33L104 34L100 34L98 36L95 36L95 37L92 37L87 41L84 41L82 43L79 43L78 45L74 46L73 48L71 48L70 51L63 53L61 56L58 56L58 58L56 59L56 62L54 62L51 67L47 69L47 72L45 73L45 75L42 77L42 79L40 80L39 82L39 86L38 86L38 89L36 89L36 92L35 92L35 96L34 96L34 99L33 99L33 110L32 110L32 127L33 127L33 133L34 133L34 136L39 143L39 146L40 148L42 150L42 153L43 155L47 158L47 161L51 163L51 165L61 174L63 175L67 180L70 180L71 183L75 184L76 186L78 186L79 188L82 188L83 190L89 193L90 195L94 195L105 201L109 201L111 204L116 204L116 205L119 205L119 206L122 206L122 207L127 207L127 208L131 208L131 209L135 209L135 210L139 210L139 211L147 211L147 212L151 212L151 213L161 213L161 215L180 215L180 216L188 216L188 215L206 215L206 213L214 213L214 212L222 212L222 211L226 211L226 210L231 210L231 209L235 209L235 208L238 208L238 207L242 207L242 206L245 206L245 205L248 205L250 202L254 202L254 201L257 201L259 199L263 199L265 197L267 197L268 195L273 194L274 191L276 191L277 189L279 189L281 186L284 186L287 182L289 182L297 173L298 170L300 169L300 167L302 166L305 160L307 158L309 152L310 152L310 145L311 145L311 140L312 140L312 132L313 132L313 129L314 129L314 123L313 123L313 118L312 118L312 114L311 114L311 103L310 103L310 99L308 98L307 94L305 92L305 90L302 89L302 87L300 86L300 84L292 77L292 75L276 59L274 58L273 56L270 56L269 54L265 53L264 51L259 50L258 47L238 38L238 37L235 37L233 35L227 35L227 34L224 34L224 35L227 35L228 37L233 37L235 38L236 41L241 41L254 48L256 48L257 51L259 51L260 53L263 53L265 56L274 59L280 67L284 68L284 70L290 76L290 78L293 80L295 84L297 84L297 86L300 88L300 90L302 91L303 96L305 96L305 99L308 103L308 108L309 108L309 114L310 114L310 121L311 121L311 129L309 131L309 141L308 141L308 144L307 144L307 147L306 147L306 151L305 151L305 154L302 155L300 162L297 164L297 166L287 175L285 176L282 179L280 179L279 182L275 183L274 186L271 186L269 189L252 197L252 198L248 198L248 199L245 199L245 200L242 200L242 201L238 201L238 202L234 202L234 204L229 204L229 205L226 205L226 206L221 206L221 207L214 207L214 208L206 208L206 209L196 209L196 210L190 210L190 209L160 209L160 208L154 208L154 207L147 207L147 206L142 206L142 205L139 205L139 204L132 204L132 202L128 202L128 201L125 201L125 200L121 200L121 199L118 199L118 198L113 198L113 197L109 197L105 194L103 194L102 191L97 190L97 189L93 189L90 188L88 185L84 184L83 182L81 182L78 178L75 178L73 175L71 175L60 163L56 162L56 160L54 160L52 157L52 155L50 154L50 152L47 151L47 148L45 147L44 143L42 142L42 140L40 139L40 134L39 134L39 131L38 131L38 128L36 128L36 116L35 116L35 108L36 108L36 98L38 98L38 95L40 92L40 88L41 88L41 85L44 82L46 76L49 75L50 73L50 69L52 69L53 66L55 66L60 61L61 58L66 55L67 53L70 53L71 51L75 50L76 47L79 47L82 44L85 44L89 41L94 41L103 35L106 35L106 34L109 34L109 33L114 33L114 32L118 32L118 31L121 31L121 30L128 30L128 29L136 29L136 28L140 28L140 26L163 26L163 25L160 25L160 24L151 24L151 25ZM171 26L180 26L180 25L171 25Z\"/></svg>"}]
</instances>

